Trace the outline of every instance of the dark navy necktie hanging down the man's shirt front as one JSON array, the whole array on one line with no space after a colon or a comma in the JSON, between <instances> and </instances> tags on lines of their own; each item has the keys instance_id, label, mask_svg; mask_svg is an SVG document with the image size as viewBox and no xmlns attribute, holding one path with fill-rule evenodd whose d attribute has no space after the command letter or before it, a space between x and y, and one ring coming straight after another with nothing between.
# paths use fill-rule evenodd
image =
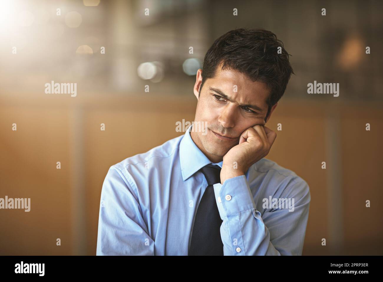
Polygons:
<instances>
[{"instance_id":1,"label":"dark navy necktie hanging down the man's shirt front","mask_svg":"<svg viewBox=\"0 0 383 282\"><path fill-rule=\"evenodd\" d=\"M220 228L222 219L214 196L213 184L221 183L221 168L209 164L201 168L208 181L194 220L189 256L223 256Z\"/></svg>"}]
</instances>

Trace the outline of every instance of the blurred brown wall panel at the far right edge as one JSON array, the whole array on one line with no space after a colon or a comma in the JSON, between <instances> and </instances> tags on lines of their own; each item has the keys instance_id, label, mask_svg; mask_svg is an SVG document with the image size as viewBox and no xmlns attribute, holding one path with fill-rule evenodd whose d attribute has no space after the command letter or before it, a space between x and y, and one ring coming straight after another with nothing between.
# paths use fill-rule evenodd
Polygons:
<instances>
[{"instance_id":1,"label":"blurred brown wall panel at the far right edge","mask_svg":"<svg viewBox=\"0 0 383 282\"><path fill-rule=\"evenodd\" d=\"M367 123L370 131L365 130ZM381 107L343 110L341 176L347 255L382 254L382 125ZM370 200L370 208L366 200Z\"/></svg>"}]
</instances>

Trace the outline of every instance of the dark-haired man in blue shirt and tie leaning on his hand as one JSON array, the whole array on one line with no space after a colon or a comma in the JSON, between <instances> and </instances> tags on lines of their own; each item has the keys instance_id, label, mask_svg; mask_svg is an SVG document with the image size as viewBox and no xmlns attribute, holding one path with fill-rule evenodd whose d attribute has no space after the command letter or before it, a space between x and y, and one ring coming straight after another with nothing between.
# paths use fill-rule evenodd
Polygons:
<instances>
[{"instance_id":1,"label":"dark-haired man in blue shirt and tie leaning on his hand","mask_svg":"<svg viewBox=\"0 0 383 282\"><path fill-rule=\"evenodd\" d=\"M193 126L108 171L97 255L301 255L308 184L264 158L291 73L272 32L219 37L196 74Z\"/></svg>"}]
</instances>

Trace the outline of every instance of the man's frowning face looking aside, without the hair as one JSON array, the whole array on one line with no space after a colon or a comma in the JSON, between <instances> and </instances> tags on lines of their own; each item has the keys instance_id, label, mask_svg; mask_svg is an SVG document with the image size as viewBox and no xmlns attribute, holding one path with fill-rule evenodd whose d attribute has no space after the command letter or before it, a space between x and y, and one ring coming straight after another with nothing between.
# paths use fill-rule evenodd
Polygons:
<instances>
[{"instance_id":1,"label":"man's frowning face looking aside, without the hair","mask_svg":"<svg viewBox=\"0 0 383 282\"><path fill-rule=\"evenodd\" d=\"M265 125L266 100L270 91L263 82L253 82L236 70L221 71L221 66L217 67L214 78L205 81L198 97L201 82L199 69L194 86L198 99L195 122L203 125L207 122L207 134L190 134L206 157L212 162L220 162L232 147L238 145L242 132L256 124ZM220 138L214 132L231 138Z\"/></svg>"}]
</instances>

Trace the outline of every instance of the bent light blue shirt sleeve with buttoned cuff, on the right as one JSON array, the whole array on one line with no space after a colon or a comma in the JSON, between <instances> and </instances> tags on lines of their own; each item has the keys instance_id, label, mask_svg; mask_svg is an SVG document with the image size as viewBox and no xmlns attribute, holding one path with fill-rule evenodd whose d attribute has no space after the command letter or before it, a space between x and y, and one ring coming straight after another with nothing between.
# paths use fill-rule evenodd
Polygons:
<instances>
[{"instance_id":1,"label":"bent light blue shirt sleeve with buttoned cuff, on the right","mask_svg":"<svg viewBox=\"0 0 383 282\"><path fill-rule=\"evenodd\" d=\"M281 193L293 208L266 209L262 217L245 175L214 184L214 194L223 220L224 256L302 254L311 200L306 181L293 181Z\"/></svg>"}]
</instances>

